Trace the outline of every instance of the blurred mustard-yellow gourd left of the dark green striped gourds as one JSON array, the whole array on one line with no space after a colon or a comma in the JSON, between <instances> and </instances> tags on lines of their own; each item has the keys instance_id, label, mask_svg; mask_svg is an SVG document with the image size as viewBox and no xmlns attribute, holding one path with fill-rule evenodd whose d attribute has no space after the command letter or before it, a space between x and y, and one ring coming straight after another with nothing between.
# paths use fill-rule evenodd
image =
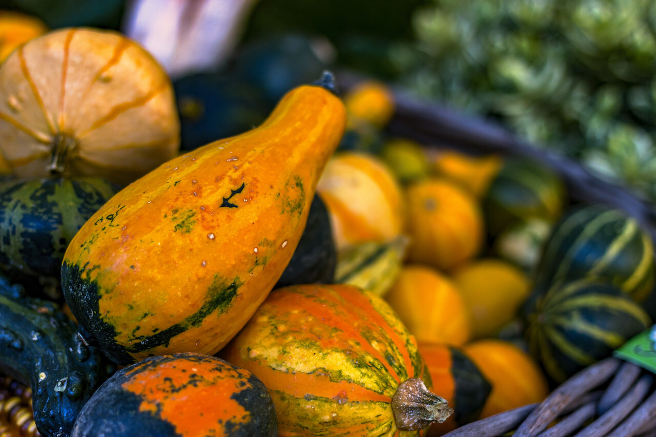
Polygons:
<instances>
[{"instance_id":1,"label":"blurred mustard-yellow gourd left of the dark green striped gourds","mask_svg":"<svg viewBox=\"0 0 656 437\"><path fill-rule=\"evenodd\" d=\"M510 323L530 291L521 270L497 259L462 266L453 282L471 311L474 338L491 336Z\"/></svg>"}]
</instances>

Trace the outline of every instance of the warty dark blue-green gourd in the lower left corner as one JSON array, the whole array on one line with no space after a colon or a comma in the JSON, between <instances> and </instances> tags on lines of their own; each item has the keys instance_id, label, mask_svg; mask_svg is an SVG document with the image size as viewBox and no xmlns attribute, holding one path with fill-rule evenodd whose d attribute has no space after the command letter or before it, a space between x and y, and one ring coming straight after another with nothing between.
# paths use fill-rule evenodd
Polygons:
<instances>
[{"instance_id":1,"label":"warty dark blue-green gourd in the lower left corner","mask_svg":"<svg viewBox=\"0 0 656 437\"><path fill-rule=\"evenodd\" d=\"M0 373L32 390L34 420L43 436L66 436L93 392L115 369L49 301L24 296L0 278Z\"/></svg>"}]
</instances>

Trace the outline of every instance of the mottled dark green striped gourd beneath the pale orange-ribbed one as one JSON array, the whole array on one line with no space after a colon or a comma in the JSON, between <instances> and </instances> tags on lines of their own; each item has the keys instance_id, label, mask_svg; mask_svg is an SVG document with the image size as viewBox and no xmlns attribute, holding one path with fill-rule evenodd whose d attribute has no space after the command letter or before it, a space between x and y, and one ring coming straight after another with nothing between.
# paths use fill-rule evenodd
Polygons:
<instances>
[{"instance_id":1,"label":"mottled dark green striped gourd beneath the pale orange-ribbed one","mask_svg":"<svg viewBox=\"0 0 656 437\"><path fill-rule=\"evenodd\" d=\"M1 270L18 278L58 278L68 243L117 191L118 186L91 177L1 184Z\"/></svg>"}]
</instances>

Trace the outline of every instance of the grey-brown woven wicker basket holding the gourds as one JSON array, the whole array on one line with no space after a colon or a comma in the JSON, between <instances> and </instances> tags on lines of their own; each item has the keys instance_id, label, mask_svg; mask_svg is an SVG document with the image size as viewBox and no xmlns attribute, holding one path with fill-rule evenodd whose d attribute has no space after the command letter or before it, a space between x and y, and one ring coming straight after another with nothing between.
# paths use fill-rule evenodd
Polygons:
<instances>
[{"instance_id":1,"label":"grey-brown woven wicker basket holding the gourds","mask_svg":"<svg viewBox=\"0 0 656 437\"><path fill-rule=\"evenodd\" d=\"M347 75L347 87L351 81L354 77ZM535 159L561 175L571 201L621 209L645 226L656 241L656 209L651 203L594 177L575 161L531 146L493 123L421 102L399 91L396 103L396 114L388 125L391 135L428 147ZM652 383L653 374L607 358L558 386L541 404L487 417L445 436L491 437L515 430L514 437L656 437L656 389Z\"/></svg>"}]
</instances>

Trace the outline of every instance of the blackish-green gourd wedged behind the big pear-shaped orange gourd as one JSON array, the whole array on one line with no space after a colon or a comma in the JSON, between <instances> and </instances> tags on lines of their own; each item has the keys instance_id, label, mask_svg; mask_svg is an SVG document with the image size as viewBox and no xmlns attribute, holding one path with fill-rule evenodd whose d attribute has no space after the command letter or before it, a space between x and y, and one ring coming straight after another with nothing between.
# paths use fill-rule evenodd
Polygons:
<instances>
[{"instance_id":1,"label":"blackish-green gourd wedged behind the big pear-shaped orange gourd","mask_svg":"<svg viewBox=\"0 0 656 437\"><path fill-rule=\"evenodd\" d=\"M335 266L337 248L330 216L321 197L315 194L298 246L274 288L301 283L333 283Z\"/></svg>"}]
</instances>

